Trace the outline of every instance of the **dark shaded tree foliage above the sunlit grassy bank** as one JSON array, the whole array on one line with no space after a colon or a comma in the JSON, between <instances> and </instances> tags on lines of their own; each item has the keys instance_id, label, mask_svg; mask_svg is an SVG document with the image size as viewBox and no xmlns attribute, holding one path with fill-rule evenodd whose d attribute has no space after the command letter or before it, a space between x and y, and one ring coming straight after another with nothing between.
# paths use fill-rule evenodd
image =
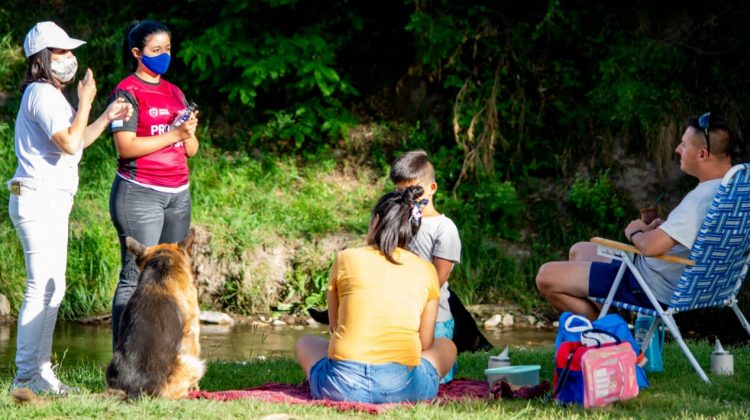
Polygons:
<instances>
[{"instance_id":1,"label":"dark shaded tree foliage above the sunlit grassy bank","mask_svg":"<svg viewBox=\"0 0 750 420\"><path fill-rule=\"evenodd\" d=\"M481 209L477 220L496 219L487 234L515 238L524 226L513 209L536 179L567 177L570 188L581 167L599 173L622 155L662 167L689 114L720 111L742 131L749 17L747 2L726 0L9 0L2 114L15 114L11 87L34 22L86 39L79 61L109 92L128 71L127 24L158 19L173 33L167 78L199 103L216 146L299 156L349 147L381 166L424 148L453 190L448 208ZM471 224L469 213L460 217Z\"/></svg>"}]
</instances>

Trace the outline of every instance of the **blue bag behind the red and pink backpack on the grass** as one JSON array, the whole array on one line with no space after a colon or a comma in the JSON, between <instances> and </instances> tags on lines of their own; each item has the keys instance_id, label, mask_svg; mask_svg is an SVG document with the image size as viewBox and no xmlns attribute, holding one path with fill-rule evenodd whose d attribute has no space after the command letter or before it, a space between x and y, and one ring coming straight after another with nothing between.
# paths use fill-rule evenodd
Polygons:
<instances>
[{"instance_id":1,"label":"blue bag behind the red and pink backpack on the grass","mask_svg":"<svg viewBox=\"0 0 750 420\"><path fill-rule=\"evenodd\" d=\"M625 322L620 315L609 314L591 322L587 318L576 315L572 312L563 312L562 315L560 315L560 325L557 329L557 338L555 339L555 351L557 351L557 349L560 348L560 345L566 341L581 341L581 332L588 331L592 328L611 333L621 341L630 343L635 354L638 355L641 353L638 343L635 342L635 338L633 338L633 334L630 332L628 323ZM646 371L636 365L635 374L638 379L638 386L640 388L647 388L649 383L648 378L646 377Z\"/></svg>"}]
</instances>

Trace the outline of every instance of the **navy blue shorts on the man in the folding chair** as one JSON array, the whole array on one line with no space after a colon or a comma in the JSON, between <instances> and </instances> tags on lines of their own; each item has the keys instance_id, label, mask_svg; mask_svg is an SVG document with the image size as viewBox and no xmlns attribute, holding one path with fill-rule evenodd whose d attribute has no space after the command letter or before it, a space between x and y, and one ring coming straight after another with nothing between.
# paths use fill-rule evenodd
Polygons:
<instances>
[{"instance_id":1,"label":"navy blue shorts on the man in the folding chair","mask_svg":"<svg viewBox=\"0 0 750 420\"><path fill-rule=\"evenodd\" d=\"M592 262L589 271L589 296L606 299L612 283L615 282L617 271L620 269L620 261L610 263ZM615 292L615 300L618 302L630 303L643 308L654 309L651 301L648 300L646 292L638 284L635 276L630 270L625 270L622 276L620 286ZM662 309L667 309L668 305L659 302Z\"/></svg>"}]
</instances>

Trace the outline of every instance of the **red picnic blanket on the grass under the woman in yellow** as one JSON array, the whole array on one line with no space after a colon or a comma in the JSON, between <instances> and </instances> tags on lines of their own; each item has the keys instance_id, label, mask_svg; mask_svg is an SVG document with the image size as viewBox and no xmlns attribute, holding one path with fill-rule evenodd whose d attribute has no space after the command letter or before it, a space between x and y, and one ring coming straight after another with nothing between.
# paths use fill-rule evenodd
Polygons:
<instances>
[{"instance_id":1,"label":"red picnic blanket on the grass under the woman in yellow","mask_svg":"<svg viewBox=\"0 0 750 420\"><path fill-rule=\"evenodd\" d=\"M440 385L437 403L462 400L464 398L483 399L489 395L486 381L472 379L456 379ZM369 404L346 401L314 400L310 394L307 381L299 385L268 383L255 388L232 391L195 391L188 398L203 398L209 400L228 401L242 398L252 398L260 401L286 404L309 404L337 408L340 411L360 411L379 414L393 407L410 405L410 403Z\"/></svg>"}]
</instances>

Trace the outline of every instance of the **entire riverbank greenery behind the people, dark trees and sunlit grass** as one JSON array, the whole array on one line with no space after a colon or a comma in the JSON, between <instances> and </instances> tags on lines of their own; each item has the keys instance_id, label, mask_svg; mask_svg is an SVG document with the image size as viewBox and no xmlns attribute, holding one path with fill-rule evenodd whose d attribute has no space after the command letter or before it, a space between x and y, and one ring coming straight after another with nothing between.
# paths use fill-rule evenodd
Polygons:
<instances>
[{"instance_id":1,"label":"entire riverbank greenery behind the people, dark trees and sunlit grass","mask_svg":"<svg viewBox=\"0 0 750 420\"><path fill-rule=\"evenodd\" d=\"M721 111L740 133L750 121L744 3L9 0L2 180L15 168L28 28L53 19L88 41L76 55L95 71L101 109L127 74L122 31L143 18L172 29L167 79L200 105L190 164L202 305L236 313L322 304L333 252L361 243L373 200L392 187L389 163L422 148L438 169L436 206L461 233L454 291L543 315L544 261L594 235L624 239L638 207L666 193L664 216L694 185L672 159L686 116ZM104 136L81 164L64 318L109 310L114 155ZM17 312L23 258L7 217L0 246L0 293Z\"/></svg>"}]
</instances>

